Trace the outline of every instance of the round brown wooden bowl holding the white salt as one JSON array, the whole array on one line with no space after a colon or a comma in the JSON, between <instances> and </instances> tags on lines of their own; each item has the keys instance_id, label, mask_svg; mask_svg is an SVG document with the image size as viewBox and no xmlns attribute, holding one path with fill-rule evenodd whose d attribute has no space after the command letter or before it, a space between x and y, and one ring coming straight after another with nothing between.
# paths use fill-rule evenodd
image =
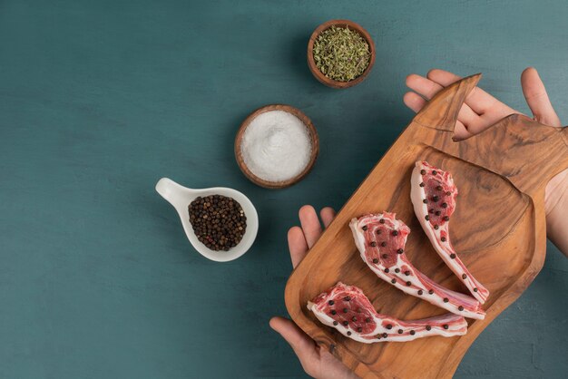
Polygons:
<instances>
[{"instance_id":1,"label":"round brown wooden bowl holding the white salt","mask_svg":"<svg viewBox=\"0 0 568 379\"><path fill-rule=\"evenodd\" d=\"M297 176L289 180L269 181L269 180L260 179L258 176L256 176L249 170L249 168L245 164L244 159L242 158L242 154L240 153L242 136L244 135L244 132L247 130L247 127L249 126L250 122L255 118L257 118L261 113L270 112L270 111L289 112L294 116L298 117L299 120L302 121L304 125L306 125L306 128L308 128L308 134L311 140L311 155L309 157L308 165ZM242 123L240 124L240 129L237 132L237 137L235 137L235 158L237 159L237 164L239 164L240 170L242 171L243 174L245 174L247 178L249 178L250 181L259 185L260 187L264 187L267 189L283 189L291 186L292 184L299 182L299 180L304 179L304 177L308 175L308 172L314 166L314 163L318 158L318 151L319 151L318 131L316 131L316 128L314 128L314 125L311 123L311 120L309 120L308 116L306 116L299 109L284 104L266 105L262 108L259 108L255 112L250 113L250 115L245 119L245 121L242 121Z\"/></svg>"}]
</instances>

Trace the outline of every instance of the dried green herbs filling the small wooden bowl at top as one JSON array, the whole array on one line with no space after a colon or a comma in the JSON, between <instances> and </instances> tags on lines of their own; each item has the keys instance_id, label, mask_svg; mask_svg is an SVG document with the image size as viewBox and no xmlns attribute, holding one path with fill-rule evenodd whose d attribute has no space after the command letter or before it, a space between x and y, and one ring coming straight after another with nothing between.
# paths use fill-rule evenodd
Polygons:
<instances>
[{"instance_id":1,"label":"dried green herbs filling the small wooden bowl at top","mask_svg":"<svg viewBox=\"0 0 568 379\"><path fill-rule=\"evenodd\" d=\"M314 62L329 79L349 82L365 72L371 60L367 41L357 31L331 25L314 41Z\"/></svg>"}]
</instances>

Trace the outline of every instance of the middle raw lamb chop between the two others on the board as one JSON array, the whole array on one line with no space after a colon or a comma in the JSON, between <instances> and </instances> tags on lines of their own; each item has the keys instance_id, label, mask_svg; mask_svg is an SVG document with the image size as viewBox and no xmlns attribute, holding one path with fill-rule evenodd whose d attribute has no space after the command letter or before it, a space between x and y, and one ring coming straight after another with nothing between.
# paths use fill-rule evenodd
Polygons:
<instances>
[{"instance_id":1,"label":"middle raw lamb chop between the two others on the board","mask_svg":"<svg viewBox=\"0 0 568 379\"><path fill-rule=\"evenodd\" d=\"M405 254L410 228L395 219L394 213L352 219L349 227L361 258L377 277L456 315L484 319L485 312L475 298L438 285L412 266Z\"/></svg>"}]
</instances>

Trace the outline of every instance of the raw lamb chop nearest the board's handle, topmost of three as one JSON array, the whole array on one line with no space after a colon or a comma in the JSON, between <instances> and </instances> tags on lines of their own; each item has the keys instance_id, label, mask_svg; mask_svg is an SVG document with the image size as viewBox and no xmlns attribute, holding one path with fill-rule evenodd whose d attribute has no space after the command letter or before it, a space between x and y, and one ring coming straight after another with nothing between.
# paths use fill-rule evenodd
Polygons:
<instances>
[{"instance_id":1,"label":"raw lamb chop nearest the board's handle, topmost of three","mask_svg":"<svg viewBox=\"0 0 568 379\"><path fill-rule=\"evenodd\" d=\"M417 161L411 183L410 199L432 246L455 275L462 279L472 295L484 304L489 291L467 270L450 242L449 220L455 210L457 195L452 174L437 169L426 161Z\"/></svg>"}]
</instances>

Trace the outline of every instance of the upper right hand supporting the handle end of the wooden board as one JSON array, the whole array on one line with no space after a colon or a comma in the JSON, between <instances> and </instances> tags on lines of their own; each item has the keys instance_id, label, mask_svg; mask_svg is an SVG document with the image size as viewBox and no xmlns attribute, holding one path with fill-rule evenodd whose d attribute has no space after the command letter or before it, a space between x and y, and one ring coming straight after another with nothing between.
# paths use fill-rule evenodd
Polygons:
<instances>
[{"instance_id":1,"label":"upper right hand supporting the handle end of the wooden board","mask_svg":"<svg viewBox=\"0 0 568 379\"><path fill-rule=\"evenodd\" d=\"M418 112L436 92L461 79L454 73L444 70L430 70L426 78L416 73L406 77L406 85L414 92L406 92L404 102L408 108ZM533 112L534 120L544 125L560 127L560 119L554 112L544 83L533 67L524 70L521 75L524 99ZM426 99L426 100L425 100ZM479 87L467 96L455 123L455 138L464 140L485 131L496 121L511 113L520 113L485 92ZM568 170L556 175L546 186L544 196L547 235L553 243L568 256Z\"/></svg>"}]
</instances>

